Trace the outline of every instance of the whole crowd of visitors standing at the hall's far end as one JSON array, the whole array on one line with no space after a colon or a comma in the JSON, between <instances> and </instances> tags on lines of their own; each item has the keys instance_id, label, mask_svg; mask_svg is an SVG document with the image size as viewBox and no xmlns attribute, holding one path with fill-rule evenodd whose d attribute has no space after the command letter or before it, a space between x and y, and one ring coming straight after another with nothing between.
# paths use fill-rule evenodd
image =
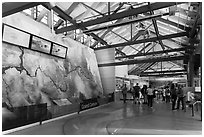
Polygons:
<instances>
[{"instance_id":1,"label":"whole crowd of visitors standing at the hall's far end","mask_svg":"<svg viewBox=\"0 0 204 137\"><path fill-rule=\"evenodd\" d=\"M134 104L142 103L141 98L143 98L143 104L147 104L149 107L153 107L153 100L156 97L156 90L152 88L151 85L149 85L149 87L143 85L143 87L140 88L137 83L135 86L128 89L127 85L123 84L121 89L124 103L126 103L127 100L127 92L130 92L132 93ZM162 97L162 100L166 101L166 103L172 102L172 110L179 109L180 103L182 110L185 109L185 94L182 89L182 85L175 85L172 83L170 88L169 86L165 86L165 88L162 90Z\"/></svg>"}]
</instances>

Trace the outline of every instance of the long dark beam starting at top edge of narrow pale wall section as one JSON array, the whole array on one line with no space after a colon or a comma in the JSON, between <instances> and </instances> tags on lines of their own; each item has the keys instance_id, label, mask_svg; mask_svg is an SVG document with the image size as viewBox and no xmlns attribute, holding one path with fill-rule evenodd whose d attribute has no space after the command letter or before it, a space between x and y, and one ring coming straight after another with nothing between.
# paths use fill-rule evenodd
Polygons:
<instances>
[{"instance_id":1,"label":"long dark beam starting at top edge of narrow pale wall section","mask_svg":"<svg viewBox=\"0 0 204 137\"><path fill-rule=\"evenodd\" d=\"M119 43L119 44L114 44L114 45L109 45L109 46L98 47L98 48L95 48L95 50L123 47L123 46L139 44L139 43L145 43L145 42L155 42L155 41L158 41L158 40L171 39L171 38L176 38L176 37L183 37L183 36L187 36L187 35L188 35L188 33L186 33L186 32L174 33L174 34L159 36L158 38L153 37L153 38L148 38L148 39L141 39L141 40L137 40L137 41L129 41L129 42L124 42L124 43Z\"/></svg>"}]
</instances>

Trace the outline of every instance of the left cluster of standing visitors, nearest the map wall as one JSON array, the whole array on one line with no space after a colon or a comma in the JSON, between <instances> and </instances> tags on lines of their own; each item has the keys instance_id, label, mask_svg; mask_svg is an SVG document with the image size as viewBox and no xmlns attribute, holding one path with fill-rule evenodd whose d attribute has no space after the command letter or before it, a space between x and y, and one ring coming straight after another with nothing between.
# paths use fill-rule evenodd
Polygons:
<instances>
[{"instance_id":1,"label":"left cluster of standing visitors, nearest the map wall","mask_svg":"<svg viewBox=\"0 0 204 137\"><path fill-rule=\"evenodd\" d=\"M126 103L127 92L129 91L130 93L132 93L134 104L142 103L141 98L143 98L143 104L147 104L149 107L153 106L153 99L155 98L155 93L154 90L151 88L151 85L149 85L149 87L143 85L143 87L140 88L139 84L137 83L135 86L131 87L128 90L127 85L124 84L121 89L124 103Z\"/></svg>"}]
</instances>

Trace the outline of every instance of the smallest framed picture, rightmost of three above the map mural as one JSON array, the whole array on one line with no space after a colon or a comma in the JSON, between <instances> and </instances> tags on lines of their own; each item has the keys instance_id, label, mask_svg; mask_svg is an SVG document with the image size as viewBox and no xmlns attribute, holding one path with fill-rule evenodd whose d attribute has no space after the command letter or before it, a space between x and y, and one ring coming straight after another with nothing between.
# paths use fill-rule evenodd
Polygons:
<instances>
[{"instance_id":1,"label":"smallest framed picture, rightmost of three above the map mural","mask_svg":"<svg viewBox=\"0 0 204 137\"><path fill-rule=\"evenodd\" d=\"M67 48L60 46L58 44L53 43L52 47L52 55L65 58L66 57Z\"/></svg>"}]
</instances>

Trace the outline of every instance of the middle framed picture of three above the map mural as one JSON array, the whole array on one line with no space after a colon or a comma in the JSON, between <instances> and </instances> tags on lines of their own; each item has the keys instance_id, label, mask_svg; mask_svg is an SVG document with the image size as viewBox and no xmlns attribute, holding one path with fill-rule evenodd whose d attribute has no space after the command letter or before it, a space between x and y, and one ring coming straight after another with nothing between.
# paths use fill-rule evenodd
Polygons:
<instances>
[{"instance_id":1,"label":"middle framed picture of three above the map mural","mask_svg":"<svg viewBox=\"0 0 204 137\"><path fill-rule=\"evenodd\" d=\"M31 49L50 53L51 42L41 39L39 37L33 36L31 41Z\"/></svg>"}]
</instances>

